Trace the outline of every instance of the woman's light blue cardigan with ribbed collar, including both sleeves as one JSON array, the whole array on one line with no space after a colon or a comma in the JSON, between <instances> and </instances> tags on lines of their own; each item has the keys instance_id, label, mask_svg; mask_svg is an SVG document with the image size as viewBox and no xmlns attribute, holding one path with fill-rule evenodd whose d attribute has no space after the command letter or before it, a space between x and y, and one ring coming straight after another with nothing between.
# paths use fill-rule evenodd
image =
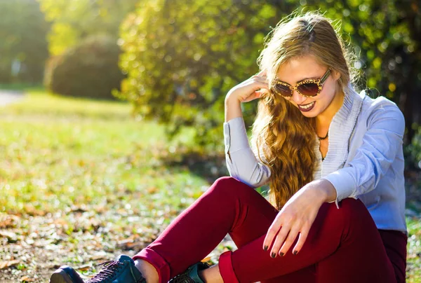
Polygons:
<instances>
[{"instance_id":1,"label":"woman's light blue cardigan with ribbed collar, including both sleeves","mask_svg":"<svg viewBox=\"0 0 421 283\"><path fill-rule=\"evenodd\" d=\"M378 229L407 233L403 179L403 132L399 108L386 99L371 99L349 85L344 102L329 127L328 153L322 162L319 140L314 179L335 187L338 202L359 198ZM253 188L269 182L270 168L250 148L242 117L224 123L225 156L229 174Z\"/></svg>"}]
</instances>

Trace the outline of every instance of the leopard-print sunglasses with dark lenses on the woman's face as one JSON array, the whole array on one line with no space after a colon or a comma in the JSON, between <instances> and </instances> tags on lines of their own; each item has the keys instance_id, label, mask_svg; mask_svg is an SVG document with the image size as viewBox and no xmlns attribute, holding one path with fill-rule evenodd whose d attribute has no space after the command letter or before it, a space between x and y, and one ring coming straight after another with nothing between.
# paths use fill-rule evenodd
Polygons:
<instances>
[{"instance_id":1,"label":"leopard-print sunglasses with dark lenses on the woman's face","mask_svg":"<svg viewBox=\"0 0 421 283\"><path fill-rule=\"evenodd\" d=\"M300 95L305 97L315 97L321 92L321 87L326 81L326 78L330 75L330 68L321 78L308 79L298 82L294 87L289 83L284 83L283 81L274 81L270 90L274 93L278 93L283 97L292 97L294 90L297 90Z\"/></svg>"}]
</instances>

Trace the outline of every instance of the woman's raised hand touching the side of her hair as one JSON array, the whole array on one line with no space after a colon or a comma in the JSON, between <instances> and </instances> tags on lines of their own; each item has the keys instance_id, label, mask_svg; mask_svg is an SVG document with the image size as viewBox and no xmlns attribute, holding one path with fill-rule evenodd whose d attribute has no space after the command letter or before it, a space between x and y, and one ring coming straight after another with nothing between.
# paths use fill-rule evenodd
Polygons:
<instances>
[{"instance_id":1,"label":"woman's raised hand touching the side of her hair","mask_svg":"<svg viewBox=\"0 0 421 283\"><path fill-rule=\"evenodd\" d=\"M234 88L229 90L225 99L238 99L239 102L250 102L260 98L265 92L269 92L266 71L260 71L246 81L234 86Z\"/></svg>"}]
</instances>

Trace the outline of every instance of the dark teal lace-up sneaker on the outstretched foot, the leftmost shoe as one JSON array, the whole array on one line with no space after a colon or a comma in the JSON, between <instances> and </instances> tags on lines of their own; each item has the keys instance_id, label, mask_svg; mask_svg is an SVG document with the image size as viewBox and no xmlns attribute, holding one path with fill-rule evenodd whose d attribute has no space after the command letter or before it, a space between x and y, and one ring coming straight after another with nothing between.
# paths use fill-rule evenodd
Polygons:
<instances>
[{"instance_id":1,"label":"dark teal lace-up sneaker on the outstretched foot, the leftmost shoe","mask_svg":"<svg viewBox=\"0 0 421 283\"><path fill-rule=\"evenodd\" d=\"M116 261L106 261L102 265L104 268L86 282L73 268L62 266L51 275L50 283L146 283L146 279L129 256L121 255Z\"/></svg>"}]
</instances>

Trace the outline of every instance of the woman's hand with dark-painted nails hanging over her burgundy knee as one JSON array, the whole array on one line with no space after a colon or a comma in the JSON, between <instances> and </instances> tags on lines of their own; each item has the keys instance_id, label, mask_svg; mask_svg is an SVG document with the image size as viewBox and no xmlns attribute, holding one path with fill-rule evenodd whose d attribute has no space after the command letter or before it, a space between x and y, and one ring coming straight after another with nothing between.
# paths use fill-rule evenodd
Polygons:
<instances>
[{"instance_id":1,"label":"woman's hand with dark-painted nails hanging over her burgundy knee","mask_svg":"<svg viewBox=\"0 0 421 283\"><path fill-rule=\"evenodd\" d=\"M329 181L320 179L312 181L303 186L295 193L281 211L267 231L263 249L271 246L274 241L270 255L275 257L276 254L283 256L290 249L290 246L298 237L295 244L293 254L297 254L302 248L309 230L316 219L317 213L323 202L333 201L336 199L336 190ZM265 250L266 250L265 249Z\"/></svg>"}]
</instances>

